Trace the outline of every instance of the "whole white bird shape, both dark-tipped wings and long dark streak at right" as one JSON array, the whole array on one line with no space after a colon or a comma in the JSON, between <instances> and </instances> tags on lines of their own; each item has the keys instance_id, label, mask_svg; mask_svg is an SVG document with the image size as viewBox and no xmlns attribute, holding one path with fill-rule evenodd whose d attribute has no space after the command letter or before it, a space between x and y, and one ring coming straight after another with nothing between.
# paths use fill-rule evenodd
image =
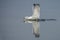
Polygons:
<instances>
[{"instance_id":1,"label":"whole white bird shape, both dark-tipped wings and long dark streak at right","mask_svg":"<svg viewBox=\"0 0 60 40\"><path fill-rule=\"evenodd\" d=\"M40 27L39 27L39 22L38 21L51 21L51 20L56 20L56 19L40 19L40 4L33 4L33 14L32 16L28 17L26 16L24 18L25 23L32 23L33 25L33 34L35 37L40 36Z\"/></svg>"}]
</instances>

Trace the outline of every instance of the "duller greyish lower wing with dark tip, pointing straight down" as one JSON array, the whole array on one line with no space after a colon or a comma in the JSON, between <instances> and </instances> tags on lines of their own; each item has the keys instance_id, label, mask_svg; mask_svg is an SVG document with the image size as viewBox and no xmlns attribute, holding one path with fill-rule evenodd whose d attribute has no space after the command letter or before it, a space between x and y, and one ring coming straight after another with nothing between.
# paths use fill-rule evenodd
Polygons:
<instances>
[{"instance_id":1,"label":"duller greyish lower wing with dark tip, pointing straight down","mask_svg":"<svg viewBox=\"0 0 60 40\"><path fill-rule=\"evenodd\" d=\"M40 25L39 25L39 22L37 21L33 21L32 22L32 25L33 25L33 34L35 35L35 37L39 37L40 36Z\"/></svg>"}]
</instances>

